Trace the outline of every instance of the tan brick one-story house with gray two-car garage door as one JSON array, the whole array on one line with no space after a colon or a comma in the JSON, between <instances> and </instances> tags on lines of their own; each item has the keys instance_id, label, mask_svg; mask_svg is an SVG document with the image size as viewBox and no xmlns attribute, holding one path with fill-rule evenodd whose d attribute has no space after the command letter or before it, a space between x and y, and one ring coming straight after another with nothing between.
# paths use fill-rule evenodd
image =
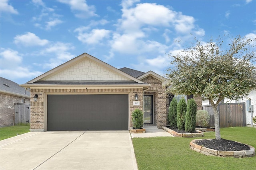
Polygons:
<instances>
[{"instance_id":1,"label":"tan brick one-story house with gray two-car garage door","mask_svg":"<svg viewBox=\"0 0 256 170\"><path fill-rule=\"evenodd\" d=\"M165 82L84 53L20 86L31 90L31 131L128 130L135 109L144 111L145 124L166 126Z\"/></svg>"}]
</instances>

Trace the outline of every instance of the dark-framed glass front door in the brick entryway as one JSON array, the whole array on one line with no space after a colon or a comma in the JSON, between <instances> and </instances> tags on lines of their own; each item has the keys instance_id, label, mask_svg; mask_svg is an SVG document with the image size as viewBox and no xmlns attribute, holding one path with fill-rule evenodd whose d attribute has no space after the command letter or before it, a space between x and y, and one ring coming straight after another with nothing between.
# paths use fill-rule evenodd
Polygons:
<instances>
[{"instance_id":1,"label":"dark-framed glass front door in the brick entryway","mask_svg":"<svg viewBox=\"0 0 256 170\"><path fill-rule=\"evenodd\" d=\"M143 97L144 103L144 124L153 124L153 96Z\"/></svg>"}]
</instances>

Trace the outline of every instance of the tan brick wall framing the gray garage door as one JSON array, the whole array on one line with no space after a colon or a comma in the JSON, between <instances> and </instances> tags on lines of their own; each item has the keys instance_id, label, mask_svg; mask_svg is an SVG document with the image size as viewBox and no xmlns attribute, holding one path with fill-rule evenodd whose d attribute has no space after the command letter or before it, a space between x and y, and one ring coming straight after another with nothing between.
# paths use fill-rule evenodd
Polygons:
<instances>
[{"instance_id":1,"label":"tan brick wall framing the gray garage door","mask_svg":"<svg viewBox=\"0 0 256 170\"><path fill-rule=\"evenodd\" d=\"M142 110L143 108L143 90L141 88L134 89L31 89L30 94L30 129L31 131L44 131L46 127L44 127L46 120L44 117L46 115L45 110L45 94L129 94L130 101L130 127L132 127L132 112L135 109ZM34 102L33 96L38 94L37 102ZM138 101L140 101L140 106L133 106L134 96L138 94Z\"/></svg>"}]
</instances>

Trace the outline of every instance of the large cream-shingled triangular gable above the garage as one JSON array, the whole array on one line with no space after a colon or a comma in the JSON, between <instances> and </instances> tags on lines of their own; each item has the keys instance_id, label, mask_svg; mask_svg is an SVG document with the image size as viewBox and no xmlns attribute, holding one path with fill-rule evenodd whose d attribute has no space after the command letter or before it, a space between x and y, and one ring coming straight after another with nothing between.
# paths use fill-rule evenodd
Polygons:
<instances>
[{"instance_id":1,"label":"large cream-shingled triangular gable above the garage","mask_svg":"<svg viewBox=\"0 0 256 170\"><path fill-rule=\"evenodd\" d=\"M30 80L38 81L142 81L84 53L52 70Z\"/></svg>"}]
</instances>

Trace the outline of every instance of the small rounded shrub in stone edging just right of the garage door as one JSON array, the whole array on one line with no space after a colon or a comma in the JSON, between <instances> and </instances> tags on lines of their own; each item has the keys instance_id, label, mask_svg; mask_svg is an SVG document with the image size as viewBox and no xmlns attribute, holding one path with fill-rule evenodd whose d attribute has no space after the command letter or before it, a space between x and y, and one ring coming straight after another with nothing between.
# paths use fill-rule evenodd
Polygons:
<instances>
[{"instance_id":1,"label":"small rounded shrub in stone edging just right of the garage door","mask_svg":"<svg viewBox=\"0 0 256 170\"><path fill-rule=\"evenodd\" d=\"M146 129L143 129L143 113L140 109L135 109L132 112L132 124L133 128L130 129L130 133L146 133Z\"/></svg>"}]
</instances>

